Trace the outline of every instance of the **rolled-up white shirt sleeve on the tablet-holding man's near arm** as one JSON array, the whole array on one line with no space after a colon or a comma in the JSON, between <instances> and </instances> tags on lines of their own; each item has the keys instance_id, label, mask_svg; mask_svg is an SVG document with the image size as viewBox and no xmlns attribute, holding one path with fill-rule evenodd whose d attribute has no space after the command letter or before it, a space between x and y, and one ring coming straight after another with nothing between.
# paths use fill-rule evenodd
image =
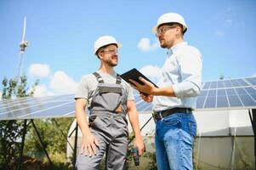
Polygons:
<instances>
[{"instance_id":1,"label":"rolled-up white shirt sleeve on the tablet-holding man's near arm","mask_svg":"<svg viewBox=\"0 0 256 170\"><path fill-rule=\"evenodd\" d=\"M192 47L177 56L180 81L174 84L174 94L177 98L191 98L200 94L202 84L202 54Z\"/></svg>"}]
</instances>

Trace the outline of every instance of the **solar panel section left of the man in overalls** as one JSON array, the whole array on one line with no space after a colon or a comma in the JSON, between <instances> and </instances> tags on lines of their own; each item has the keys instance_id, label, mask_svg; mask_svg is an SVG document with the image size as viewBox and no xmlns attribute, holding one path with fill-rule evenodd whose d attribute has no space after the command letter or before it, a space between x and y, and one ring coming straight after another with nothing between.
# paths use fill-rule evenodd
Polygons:
<instances>
[{"instance_id":1,"label":"solar panel section left of the man in overalls","mask_svg":"<svg viewBox=\"0 0 256 170\"><path fill-rule=\"evenodd\" d=\"M21 98L0 102L0 120L74 116L74 95Z\"/></svg>"}]
</instances>

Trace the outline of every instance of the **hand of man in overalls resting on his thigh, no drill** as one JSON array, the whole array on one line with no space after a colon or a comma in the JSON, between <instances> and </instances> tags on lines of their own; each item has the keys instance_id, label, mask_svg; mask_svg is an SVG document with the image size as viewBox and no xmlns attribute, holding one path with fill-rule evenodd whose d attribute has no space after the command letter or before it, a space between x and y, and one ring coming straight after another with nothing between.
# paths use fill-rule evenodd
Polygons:
<instances>
[{"instance_id":1,"label":"hand of man in overalls resting on his thigh, no drill","mask_svg":"<svg viewBox=\"0 0 256 170\"><path fill-rule=\"evenodd\" d=\"M98 140L94 137L92 133L88 133L88 135L82 136L81 153L84 153L85 156L92 156L93 154L96 155L96 145L100 146Z\"/></svg>"}]
</instances>

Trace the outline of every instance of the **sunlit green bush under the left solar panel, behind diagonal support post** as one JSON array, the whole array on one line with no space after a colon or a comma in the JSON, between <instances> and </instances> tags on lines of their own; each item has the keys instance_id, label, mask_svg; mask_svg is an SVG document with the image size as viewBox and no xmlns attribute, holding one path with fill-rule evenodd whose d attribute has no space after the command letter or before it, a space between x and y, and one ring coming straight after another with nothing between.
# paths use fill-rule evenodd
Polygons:
<instances>
[{"instance_id":1,"label":"sunlit green bush under the left solar panel, behind diagonal support post","mask_svg":"<svg viewBox=\"0 0 256 170\"><path fill-rule=\"evenodd\" d=\"M66 137L74 118L37 119L34 120L40 138L52 161L65 162ZM45 153L37 138L37 133L30 128L26 136L25 153L27 156L45 159Z\"/></svg>"}]
</instances>

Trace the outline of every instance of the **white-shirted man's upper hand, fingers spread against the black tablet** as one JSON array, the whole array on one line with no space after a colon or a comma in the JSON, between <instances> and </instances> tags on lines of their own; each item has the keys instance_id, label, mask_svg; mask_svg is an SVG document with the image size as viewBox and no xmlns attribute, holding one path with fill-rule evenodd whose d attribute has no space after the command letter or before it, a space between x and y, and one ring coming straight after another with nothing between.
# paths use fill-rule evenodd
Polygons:
<instances>
[{"instance_id":1,"label":"white-shirted man's upper hand, fingers spread against the black tablet","mask_svg":"<svg viewBox=\"0 0 256 170\"><path fill-rule=\"evenodd\" d=\"M133 82L133 84L131 84L131 86L135 89L137 89L139 92L143 92L145 94L152 94L154 95L157 88L151 83L146 81L144 78L139 77L139 81L143 82L144 85L139 84L139 82L135 82L132 79L129 79L130 82Z\"/></svg>"}]
</instances>

